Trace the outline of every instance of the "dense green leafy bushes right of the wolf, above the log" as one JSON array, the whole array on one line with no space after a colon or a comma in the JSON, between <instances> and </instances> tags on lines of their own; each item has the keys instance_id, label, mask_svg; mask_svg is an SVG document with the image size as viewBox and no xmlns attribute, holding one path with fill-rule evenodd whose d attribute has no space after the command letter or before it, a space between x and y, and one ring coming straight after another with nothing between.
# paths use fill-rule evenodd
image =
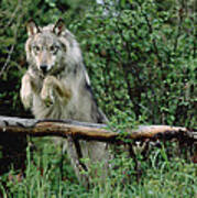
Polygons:
<instances>
[{"instance_id":1,"label":"dense green leafy bushes right of the wolf, above the log","mask_svg":"<svg viewBox=\"0 0 197 198\"><path fill-rule=\"evenodd\" d=\"M96 95L149 123L195 125L196 32L191 2L105 1L73 24ZM124 4L124 7L122 7ZM165 3L164 3L165 4ZM88 37L88 40L87 40Z\"/></svg>"}]
</instances>

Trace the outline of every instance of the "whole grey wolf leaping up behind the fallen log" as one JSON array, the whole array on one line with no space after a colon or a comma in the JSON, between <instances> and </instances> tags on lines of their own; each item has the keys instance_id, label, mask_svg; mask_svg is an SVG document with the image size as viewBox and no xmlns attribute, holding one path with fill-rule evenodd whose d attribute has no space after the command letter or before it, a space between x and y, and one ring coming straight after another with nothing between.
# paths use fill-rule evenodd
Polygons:
<instances>
[{"instance_id":1,"label":"whole grey wolf leaping up behind the fallen log","mask_svg":"<svg viewBox=\"0 0 197 198\"><path fill-rule=\"evenodd\" d=\"M31 109L36 119L72 119L84 122L106 123L108 120L98 108L81 51L75 36L66 29L63 20L56 24L37 26L28 22L25 43L29 68L22 77L20 96L24 108ZM108 145L66 139L66 151L78 179L89 185L90 163L103 162L103 176L108 172Z\"/></svg>"}]
</instances>

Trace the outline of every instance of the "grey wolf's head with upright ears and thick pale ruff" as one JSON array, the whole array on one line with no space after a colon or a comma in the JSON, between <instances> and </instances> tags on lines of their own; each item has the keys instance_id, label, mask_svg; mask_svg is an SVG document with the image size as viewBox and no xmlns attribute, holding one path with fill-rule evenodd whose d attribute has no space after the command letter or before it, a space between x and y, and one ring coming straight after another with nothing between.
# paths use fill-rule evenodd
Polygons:
<instances>
[{"instance_id":1,"label":"grey wolf's head with upright ears and thick pale ruff","mask_svg":"<svg viewBox=\"0 0 197 198\"><path fill-rule=\"evenodd\" d=\"M26 25L28 62L43 75L53 74L62 67L81 62L81 53L74 35L65 28L62 20L55 25L40 28L34 21Z\"/></svg>"}]
</instances>

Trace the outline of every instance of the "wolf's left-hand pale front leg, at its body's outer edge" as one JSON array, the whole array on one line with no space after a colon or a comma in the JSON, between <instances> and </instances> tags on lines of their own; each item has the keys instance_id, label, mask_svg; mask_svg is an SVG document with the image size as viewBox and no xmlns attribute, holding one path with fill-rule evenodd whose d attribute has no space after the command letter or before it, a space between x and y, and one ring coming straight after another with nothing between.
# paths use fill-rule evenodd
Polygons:
<instances>
[{"instance_id":1,"label":"wolf's left-hand pale front leg, at its body's outer edge","mask_svg":"<svg viewBox=\"0 0 197 198\"><path fill-rule=\"evenodd\" d=\"M22 77L22 84L21 84L21 100L25 109L31 108L32 102L33 102L33 79L29 73L26 73Z\"/></svg>"}]
</instances>

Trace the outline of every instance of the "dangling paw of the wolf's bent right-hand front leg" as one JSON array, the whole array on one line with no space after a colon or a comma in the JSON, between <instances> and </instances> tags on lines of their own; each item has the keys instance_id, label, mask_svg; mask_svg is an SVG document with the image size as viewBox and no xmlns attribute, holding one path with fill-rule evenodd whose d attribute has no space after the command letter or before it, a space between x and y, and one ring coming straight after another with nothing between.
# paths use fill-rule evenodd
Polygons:
<instances>
[{"instance_id":1,"label":"dangling paw of the wolf's bent right-hand front leg","mask_svg":"<svg viewBox=\"0 0 197 198\"><path fill-rule=\"evenodd\" d=\"M41 98L47 107L52 106L55 102L53 81L53 76L46 77L46 79L43 82L43 88L41 90Z\"/></svg>"}]
</instances>

